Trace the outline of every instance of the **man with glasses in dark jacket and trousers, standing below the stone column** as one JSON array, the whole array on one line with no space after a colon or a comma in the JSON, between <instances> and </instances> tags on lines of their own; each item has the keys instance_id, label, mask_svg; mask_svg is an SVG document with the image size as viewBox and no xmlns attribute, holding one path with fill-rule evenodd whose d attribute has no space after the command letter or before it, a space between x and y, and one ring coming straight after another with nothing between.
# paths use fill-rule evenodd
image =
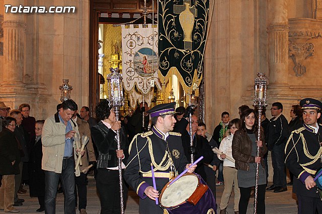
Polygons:
<instances>
[{"instance_id":1,"label":"man with glasses in dark jacket and trousers, standing below the stone column","mask_svg":"<svg viewBox=\"0 0 322 214\"><path fill-rule=\"evenodd\" d=\"M274 102L271 108L273 118L267 127L267 146L271 151L273 165L273 185L266 190L287 191L285 168L285 145L288 139L288 122L282 115L283 105Z\"/></svg>"}]
</instances>

